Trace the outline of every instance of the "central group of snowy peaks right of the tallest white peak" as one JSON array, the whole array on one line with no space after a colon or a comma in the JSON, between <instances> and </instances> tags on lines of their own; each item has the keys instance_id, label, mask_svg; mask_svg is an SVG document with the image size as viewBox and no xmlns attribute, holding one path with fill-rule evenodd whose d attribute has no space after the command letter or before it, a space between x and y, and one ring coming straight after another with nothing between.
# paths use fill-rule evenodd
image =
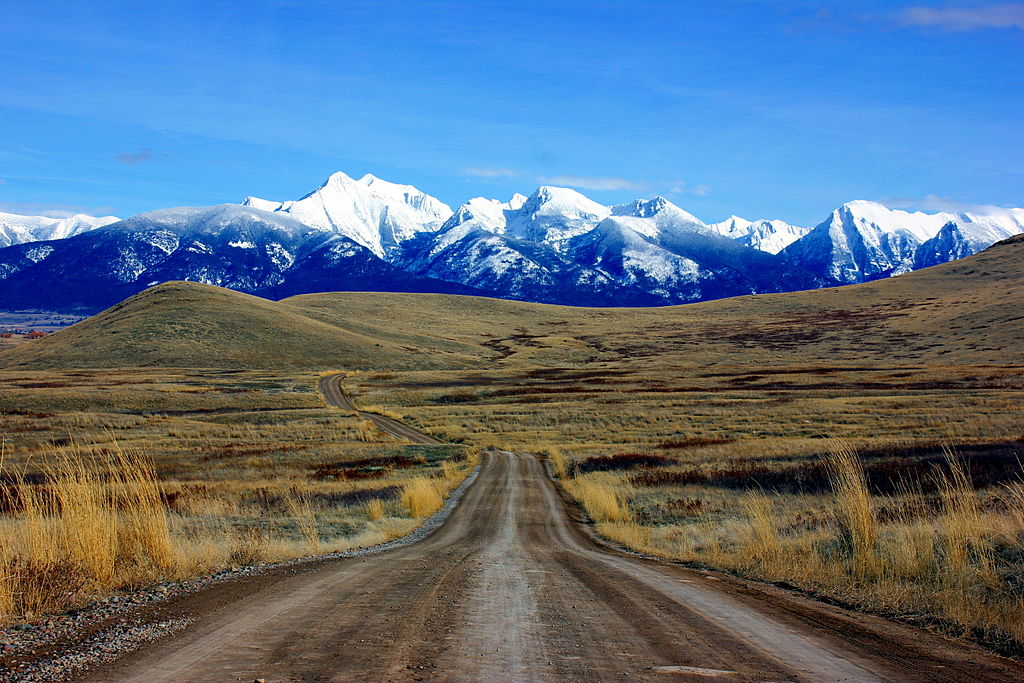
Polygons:
<instances>
[{"instance_id":1,"label":"central group of snowy peaks right of the tallest white peak","mask_svg":"<svg viewBox=\"0 0 1024 683\"><path fill-rule=\"evenodd\" d=\"M681 303L818 284L665 198L603 207L554 187L506 203L470 200L437 233L410 242L401 263L498 296L578 305Z\"/></svg>"}]
</instances>

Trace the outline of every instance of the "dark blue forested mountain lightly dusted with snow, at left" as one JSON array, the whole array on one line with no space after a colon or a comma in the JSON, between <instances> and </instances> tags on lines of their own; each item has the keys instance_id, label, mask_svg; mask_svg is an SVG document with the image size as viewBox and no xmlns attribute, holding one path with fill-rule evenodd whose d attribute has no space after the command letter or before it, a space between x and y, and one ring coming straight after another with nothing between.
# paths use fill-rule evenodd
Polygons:
<instances>
[{"instance_id":1,"label":"dark blue forested mountain lightly dusted with snow, at left","mask_svg":"<svg viewBox=\"0 0 1024 683\"><path fill-rule=\"evenodd\" d=\"M0 249L0 296L11 307L102 308L173 280L279 296L325 289L473 293L406 273L286 213L236 204L164 209L65 240Z\"/></svg>"}]
</instances>

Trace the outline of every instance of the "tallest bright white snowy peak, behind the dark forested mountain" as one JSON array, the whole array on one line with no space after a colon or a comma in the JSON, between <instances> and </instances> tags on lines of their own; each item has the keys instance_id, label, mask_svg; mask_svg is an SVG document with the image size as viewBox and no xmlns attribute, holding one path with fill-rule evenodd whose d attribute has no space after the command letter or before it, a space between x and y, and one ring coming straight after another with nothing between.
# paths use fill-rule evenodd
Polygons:
<instances>
[{"instance_id":1,"label":"tallest bright white snowy peak, behind the dark forested mountain","mask_svg":"<svg viewBox=\"0 0 1024 683\"><path fill-rule=\"evenodd\" d=\"M338 172L294 202L249 197L243 202L263 211L284 213L325 232L334 232L390 260L401 243L434 232L452 209L412 185L381 180L369 173L354 180Z\"/></svg>"}]
</instances>

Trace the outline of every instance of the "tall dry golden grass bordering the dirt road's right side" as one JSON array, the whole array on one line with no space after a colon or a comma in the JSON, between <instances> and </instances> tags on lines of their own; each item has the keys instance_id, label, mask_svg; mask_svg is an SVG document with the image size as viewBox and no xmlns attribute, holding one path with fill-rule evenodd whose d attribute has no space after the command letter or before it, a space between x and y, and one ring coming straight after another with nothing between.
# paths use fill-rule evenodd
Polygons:
<instances>
[{"instance_id":1,"label":"tall dry golden grass bordering the dirt road's right side","mask_svg":"<svg viewBox=\"0 0 1024 683\"><path fill-rule=\"evenodd\" d=\"M947 450L934 493L903 484L879 495L849 442L834 441L824 460L830 495L736 496L694 484L655 493L630 483L635 471L572 476L583 461L565 466L561 481L600 533L636 550L931 617L954 635L1024 653L1024 481L978 490Z\"/></svg>"}]
</instances>

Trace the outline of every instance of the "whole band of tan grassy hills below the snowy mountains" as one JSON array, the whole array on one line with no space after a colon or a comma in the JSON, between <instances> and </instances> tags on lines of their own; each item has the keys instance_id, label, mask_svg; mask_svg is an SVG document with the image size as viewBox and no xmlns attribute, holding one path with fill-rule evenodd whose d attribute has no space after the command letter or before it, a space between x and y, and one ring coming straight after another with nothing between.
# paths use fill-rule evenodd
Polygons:
<instances>
[{"instance_id":1,"label":"whole band of tan grassy hills below the snowy mountains","mask_svg":"<svg viewBox=\"0 0 1024 683\"><path fill-rule=\"evenodd\" d=\"M573 308L435 294L271 302L195 283L154 287L6 368L443 369L1024 359L1024 239L899 278L664 308Z\"/></svg>"}]
</instances>

